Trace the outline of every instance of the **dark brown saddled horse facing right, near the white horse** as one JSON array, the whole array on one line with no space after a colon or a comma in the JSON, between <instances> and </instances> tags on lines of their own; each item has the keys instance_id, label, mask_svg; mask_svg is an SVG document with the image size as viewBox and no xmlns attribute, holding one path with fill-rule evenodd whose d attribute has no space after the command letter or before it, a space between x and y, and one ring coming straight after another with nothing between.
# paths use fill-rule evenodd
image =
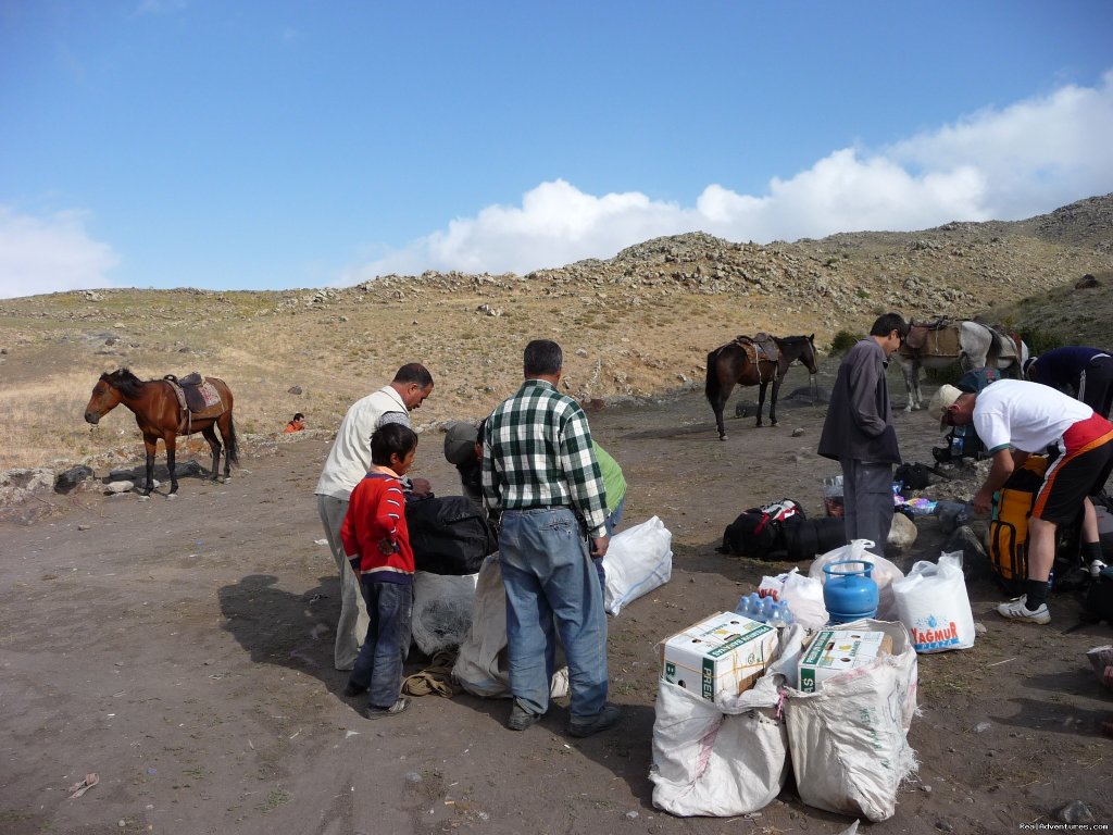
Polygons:
<instances>
[{"instance_id":1,"label":"dark brown saddled horse facing right, near the white horse","mask_svg":"<svg viewBox=\"0 0 1113 835\"><path fill-rule=\"evenodd\" d=\"M809 374L819 371L816 366L816 335L810 336L774 336L777 344L777 362L768 360L762 354L756 362L750 358L749 351L754 345L743 345L737 340L720 345L707 355L707 384L703 387L711 409L715 410L715 423L719 429L719 440L727 440L727 430L722 425L722 410L727 405L730 392L735 385L758 385L758 426L761 425L761 410L765 407L765 393L772 383L772 396L769 400L769 423L777 425L777 393L788 366L799 361L807 367Z\"/></svg>"}]
</instances>

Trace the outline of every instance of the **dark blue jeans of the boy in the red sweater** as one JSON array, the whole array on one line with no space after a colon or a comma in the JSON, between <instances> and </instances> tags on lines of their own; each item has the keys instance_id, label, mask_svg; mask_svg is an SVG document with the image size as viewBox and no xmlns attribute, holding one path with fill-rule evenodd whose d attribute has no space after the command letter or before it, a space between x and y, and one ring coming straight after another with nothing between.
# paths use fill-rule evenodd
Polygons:
<instances>
[{"instance_id":1,"label":"dark blue jeans of the boy in the red sweater","mask_svg":"<svg viewBox=\"0 0 1113 835\"><path fill-rule=\"evenodd\" d=\"M402 665L410 654L414 587L361 578L371 622L349 681L367 688L371 707L390 707L402 692Z\"/></svg>"}]
</instances>

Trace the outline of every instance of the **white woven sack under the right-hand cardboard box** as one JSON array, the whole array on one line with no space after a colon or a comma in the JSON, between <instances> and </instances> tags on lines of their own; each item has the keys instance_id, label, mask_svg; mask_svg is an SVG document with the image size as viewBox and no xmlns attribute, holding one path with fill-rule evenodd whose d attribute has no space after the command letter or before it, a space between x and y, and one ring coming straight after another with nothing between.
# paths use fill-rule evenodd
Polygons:
<instances>
[{"instance_id":1,"label":"white woven sack under the right-hand cardboard box","mask_svg":"<svg viewBox=\"0 0 1113 835\"><path fill-rule=\"evenodd\" d=\"M908 726L916 713L916 651L900 623L856 620L840 629L884 631L893 654L826 679L815 692L786 690L788 746L800 799L870 821L896 811L916 770Z\"/></svg>"}]
</instances>

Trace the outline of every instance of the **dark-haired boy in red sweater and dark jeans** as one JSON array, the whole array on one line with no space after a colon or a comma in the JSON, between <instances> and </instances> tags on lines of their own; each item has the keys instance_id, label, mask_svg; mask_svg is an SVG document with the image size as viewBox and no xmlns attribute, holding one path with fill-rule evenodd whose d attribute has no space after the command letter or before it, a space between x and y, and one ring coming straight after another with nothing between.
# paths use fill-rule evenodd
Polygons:
<instances>
[{"instance_id":1,"label":"dark-haired boy in red sweater and dark jeans","mask_svg":"<svg viewBox=\"0 0 1113 835\"><path fill-rule=\"evenodd\" d=\"M371 436L371 471L356 484L341 527L344 553L359 578L371 625L345 696L367 694L364 716L381 719L410 707L402 665L410 651L414 554L406 528L401 477L413 465L417 435L387 423Z\"/></svg>"}]
</instances>

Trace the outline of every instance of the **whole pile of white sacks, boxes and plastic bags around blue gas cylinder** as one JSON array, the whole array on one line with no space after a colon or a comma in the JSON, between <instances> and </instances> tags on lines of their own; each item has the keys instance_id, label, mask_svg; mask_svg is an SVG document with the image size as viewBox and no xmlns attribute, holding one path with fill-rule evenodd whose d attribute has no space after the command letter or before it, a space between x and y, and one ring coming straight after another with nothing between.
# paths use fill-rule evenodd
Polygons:
<instances>
[{"instance_id":1,"label":"whole pile of white sacks, boxes and plastic bags around blue gas cylinder","mask_svg":"<svg viewBox=\"0 0 1113 835\"><path fill-rule=\"evenodd\" d=\"M828 551L808 574L764 578L757 593L788 605L786 626L719 612L661 642L656 806L751 814L780 794L791 768L809 806L869 821L895 814L897 789L917 767L908 744L917 654L969 648L975 633L961 553L905 576L871 544ZM856 609L857 620L829 623L838 596L820 578L854 562L870 566L877 616ZM755 610L750 596L739 609Z\"/></svg>"}]
</instances>

